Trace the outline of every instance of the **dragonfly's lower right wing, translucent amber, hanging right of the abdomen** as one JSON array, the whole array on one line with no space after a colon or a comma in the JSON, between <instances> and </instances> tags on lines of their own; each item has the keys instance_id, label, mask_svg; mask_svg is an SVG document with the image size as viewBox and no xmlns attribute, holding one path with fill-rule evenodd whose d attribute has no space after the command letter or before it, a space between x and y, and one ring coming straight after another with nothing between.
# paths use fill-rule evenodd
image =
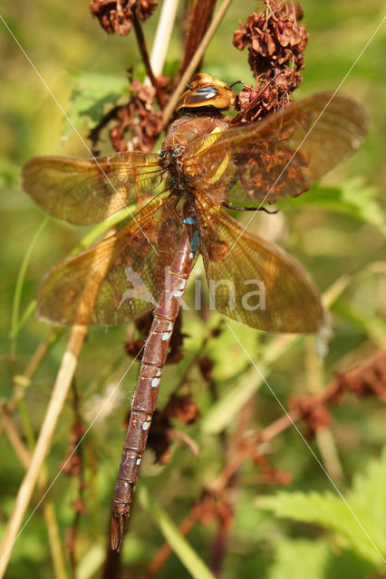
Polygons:
<instances>
[{"instance_id":1,"label":"dragonfly's lower right wing, translucent amber, hanging right of the abdomen","mask_svg":"<svg viewBox=\"0 0 386 579\"><path fill-rule=\"evenodd\" d=\"M196 202L211 302L229 318L265 331L312 333L325 324L302 266L241 226L218 205Z\"/></svg>"}]
</instances>

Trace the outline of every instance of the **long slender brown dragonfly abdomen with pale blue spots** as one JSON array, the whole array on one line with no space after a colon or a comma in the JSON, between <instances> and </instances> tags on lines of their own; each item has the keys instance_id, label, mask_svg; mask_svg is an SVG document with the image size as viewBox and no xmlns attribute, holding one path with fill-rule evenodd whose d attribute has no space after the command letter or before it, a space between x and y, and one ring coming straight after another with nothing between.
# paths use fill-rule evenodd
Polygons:
<instances>
[{"instance_id":1,"label":"long slender brown dragonfly abdomen with pale blue spots","mask_svg":"<svg viewBox=\"0 0 386 579\"><path fill-rule=\"evenodd\" d=\"M120 551L126 520L156 408L162 369L168 356L169 341L179 313L188 276L198 246L197 225L192 200L184 207L183 232L179 249L170 265L159 303L146 340L137 388L131 403L130 421L123 445L111 512L111 548Z\"/></svg>"}]
</instances>

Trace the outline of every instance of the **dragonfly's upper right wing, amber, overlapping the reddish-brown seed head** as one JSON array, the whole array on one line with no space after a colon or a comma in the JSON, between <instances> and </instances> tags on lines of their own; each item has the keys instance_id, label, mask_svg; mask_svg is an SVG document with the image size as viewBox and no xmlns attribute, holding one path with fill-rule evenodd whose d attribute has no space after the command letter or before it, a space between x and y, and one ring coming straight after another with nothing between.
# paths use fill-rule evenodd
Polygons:
<instances>
[{"instance_id":1,"label":"dragonfly's upper right wing, amber, overlapping the reddish-brown seed head","mask_svg":"<svg viewBox=\"0 0 386 579\"><path fill-rule=\"evenodd\" d=\"M266 119L198 138L184 168L215 204L254 207L301 195L360 147L365 109L329 93L294 103Z\"/></svg>"}]
</instances>

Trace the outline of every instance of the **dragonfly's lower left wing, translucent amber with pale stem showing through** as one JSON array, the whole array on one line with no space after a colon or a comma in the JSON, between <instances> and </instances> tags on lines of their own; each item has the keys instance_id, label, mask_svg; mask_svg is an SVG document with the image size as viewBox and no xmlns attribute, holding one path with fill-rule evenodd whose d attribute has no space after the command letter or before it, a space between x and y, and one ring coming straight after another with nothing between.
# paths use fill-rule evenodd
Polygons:
<instances>
[{"instance_id":1,"label":"dragonfly's lower left wing, translucent amber with pale stem showing through","mask_svg":"<svg viewBox=\"0 0 386 579\"><path fill-rule=\"evenodd\" d=\"M122 229L56 266L37 294L53 324L113 326L154 309L179 244L175 200L153 200Z\"/></svg>"}]
</instances>

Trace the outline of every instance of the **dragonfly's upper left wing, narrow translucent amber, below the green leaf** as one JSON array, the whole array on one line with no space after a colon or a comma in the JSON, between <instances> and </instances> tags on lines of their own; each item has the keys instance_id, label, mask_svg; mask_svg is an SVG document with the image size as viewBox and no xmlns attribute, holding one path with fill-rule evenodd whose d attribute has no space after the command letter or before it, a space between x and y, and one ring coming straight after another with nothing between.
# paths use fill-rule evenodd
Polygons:
<instances>
[{"instance_id":1,"label":"dragonfly's upper left wing, narrow translucent amber, below the green leaf","mask_svg":"<svg viewBox=\"0 0 386 579\"><path fill-rule=\"evenodd\" d=\"M137 203L159 185L159 156L127 152L105 157L35 157L23 170L24 191L54 217L87 225Z\"/></svg>"}]
</instances>

